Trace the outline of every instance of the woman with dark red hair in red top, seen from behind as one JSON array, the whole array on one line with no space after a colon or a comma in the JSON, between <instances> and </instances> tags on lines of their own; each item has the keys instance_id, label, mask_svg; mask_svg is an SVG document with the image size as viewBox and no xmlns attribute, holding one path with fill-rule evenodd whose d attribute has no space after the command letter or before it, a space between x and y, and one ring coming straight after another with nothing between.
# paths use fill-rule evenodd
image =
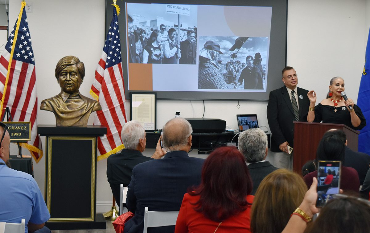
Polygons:
<instances>
[{"instance_id":1,"label":"woman with dark red hair in red top, seen from behind","mask_svg":"<svg viewBox=\"0 0 370 233\"><path fill-rule=\"evenodd\" d=\"M184 195L175 233L250 232L252 180L242 154L221 147L203 164L202 180Z\"/></svg>"}]
</instances>

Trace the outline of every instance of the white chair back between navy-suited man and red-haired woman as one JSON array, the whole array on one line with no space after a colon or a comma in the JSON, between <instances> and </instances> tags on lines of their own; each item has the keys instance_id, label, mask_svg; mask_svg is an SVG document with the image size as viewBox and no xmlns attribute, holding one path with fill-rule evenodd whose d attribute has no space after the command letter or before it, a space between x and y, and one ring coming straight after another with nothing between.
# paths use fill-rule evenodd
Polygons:
<instances>
[{"instance_id":1,"label":"white chair back between navy-suited man and red-haired woman","mask_svg":"<svg viewBox=\"0 0 370 233\"><path fill-rule=\"evenodd\" d=\"M148 227L175 226L178 211L149 211L148 207L144 210L144 232L148 232Z\"/></svg>"}]
</instances>

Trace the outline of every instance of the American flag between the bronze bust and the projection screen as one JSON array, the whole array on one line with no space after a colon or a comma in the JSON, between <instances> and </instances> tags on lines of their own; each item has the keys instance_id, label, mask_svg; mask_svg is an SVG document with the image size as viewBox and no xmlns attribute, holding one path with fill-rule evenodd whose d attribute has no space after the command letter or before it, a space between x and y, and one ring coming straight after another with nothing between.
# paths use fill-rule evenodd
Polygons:
<instances>
[{"instance_id":1,"label":"American flag between the bronze bust and the projection screen","mask_svg":"<svg viewBox=\"0 0 370 233\"><path fill-rule=\"evenodd\" d=\"M98 139L100 156L98 161L123 149L121 141L122 124L126 123L125 88L122 75L121 42L118 30L117 5L113 7L113 19L104 43L95 80L90 94L101 105L97 111L94 125L107 127L107 134Z\"/></svg>"}]
</instances>

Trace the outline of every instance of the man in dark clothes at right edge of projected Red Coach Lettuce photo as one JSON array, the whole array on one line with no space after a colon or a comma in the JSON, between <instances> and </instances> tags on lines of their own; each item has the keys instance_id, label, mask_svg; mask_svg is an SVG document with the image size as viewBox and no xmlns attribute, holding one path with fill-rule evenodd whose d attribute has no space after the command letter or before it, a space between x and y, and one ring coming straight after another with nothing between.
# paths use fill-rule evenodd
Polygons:
<instances>
[{"instance_id":1,"label":"man in dark clothes at right edge of projected Red Coach Lettuce photo","mask_svg":"<svg viewBox=\"0 0 370 233\"><path fill-rule=\"evenodd\" d=\"M190 29L186 35L188 39L180 42L181 57L179 64L196 64L195 31Z\"/></svg>"}]
</instances>

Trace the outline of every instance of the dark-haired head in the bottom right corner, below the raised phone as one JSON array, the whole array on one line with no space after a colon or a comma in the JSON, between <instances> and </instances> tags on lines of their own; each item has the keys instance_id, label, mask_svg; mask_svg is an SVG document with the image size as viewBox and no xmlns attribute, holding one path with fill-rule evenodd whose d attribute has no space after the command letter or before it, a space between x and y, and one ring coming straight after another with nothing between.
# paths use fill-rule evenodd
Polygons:
<instances>
[{"instance_id":1,"label":"dark-haired head in the bottom right corner, below the raised phone","mask_svg":"<svg viewBox=\"0 0 370 233\"><path fill-rule=\"evenodd\" d=\"M319 217L308 225L305 232L368 233L369 219L370 206L366 200L334 198L323 207Z\"/></svg>"}]
</instances>

